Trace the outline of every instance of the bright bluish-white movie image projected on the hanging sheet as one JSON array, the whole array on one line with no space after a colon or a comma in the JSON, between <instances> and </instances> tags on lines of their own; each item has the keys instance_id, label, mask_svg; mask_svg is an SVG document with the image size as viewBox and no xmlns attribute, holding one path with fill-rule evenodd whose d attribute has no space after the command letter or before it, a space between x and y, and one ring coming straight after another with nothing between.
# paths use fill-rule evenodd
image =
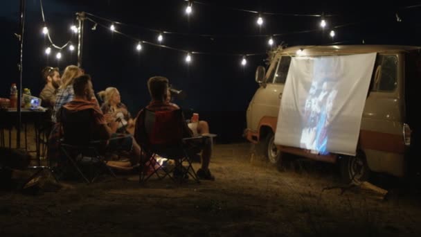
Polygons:
<instances>
[{"instance_id":1,"label":"bright bluish-white movie image projected on the hanging sheet","mask_svg":"<svg viewBox=\"0 0 421 237\"><path fill-rule=\"evenodd\" d=\"M314 80L305 100L301 148L328 153L329 125L337 89L330 88L329 78Z\"/></svg>"}]
</instances>

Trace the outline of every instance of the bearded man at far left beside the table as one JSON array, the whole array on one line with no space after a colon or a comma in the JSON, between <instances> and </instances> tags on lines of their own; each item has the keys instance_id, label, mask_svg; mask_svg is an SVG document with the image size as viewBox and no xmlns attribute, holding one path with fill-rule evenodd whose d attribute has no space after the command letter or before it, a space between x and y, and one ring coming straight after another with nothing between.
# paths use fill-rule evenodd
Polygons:
<instances>
[{"instance_id":1,"label":"bearded man at far left beside the table","mask_svg":"<svg viewBox=\"0 0 421 237\"><path fill-rule=\"evenodd\" d=\"M42 77L46 84L39 94L39 98L42 99L43 107L51 109L55 104L55 94L60 86L60 73L57 67L46 67L42 70Z\"/></svg>"}]
</instances>

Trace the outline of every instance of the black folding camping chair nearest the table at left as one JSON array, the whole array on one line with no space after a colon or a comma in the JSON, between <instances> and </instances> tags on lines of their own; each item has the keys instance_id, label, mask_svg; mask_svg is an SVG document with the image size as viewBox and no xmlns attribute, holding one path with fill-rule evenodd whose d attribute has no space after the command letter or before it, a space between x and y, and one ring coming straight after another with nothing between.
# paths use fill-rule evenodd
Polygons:
<instances>
[{"instance_id":1,"label":"black folding camping chair nearest the table at left","mask_svg":"<svg viewBox=\"0 0 421 237\"><path fill-rule=\"evenodd\" d=\"M87 184L100 175L101 169L107 170L111 176L116 177L111 168L105 164L104 157L98 152L98 148L104 145L96 139L96 134L92 130L94 128L93 119L91 119L93 109L69 112L62 107L60 113L64 132L64 138L60 141L60 150L65 157L60 173L65 173L71 166ZM88 166L89 177L86 172L82 172L82 165Z\"/></svg>"}]
</instances>

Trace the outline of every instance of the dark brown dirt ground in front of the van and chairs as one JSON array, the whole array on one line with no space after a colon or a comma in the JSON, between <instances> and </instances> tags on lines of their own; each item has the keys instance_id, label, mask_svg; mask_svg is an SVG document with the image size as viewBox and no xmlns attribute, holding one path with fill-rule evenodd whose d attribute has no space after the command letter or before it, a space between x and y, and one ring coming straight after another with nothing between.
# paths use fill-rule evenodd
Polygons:
<instances>
[{"instance_id":1,"label":"dark brown dirt ground in front of the van and chairs","mask_svg":"<svg viewBox=\"0 0 421 237\"><path fill-rule=\"evenodd\" d=\"M420 236L416 188L397 182L384 199L341 188L335 166L293 164L280 172L235 143L215 145L215 182L103 175L55 193L3 192L0 236Z\"/></svg>"}]
</instances>

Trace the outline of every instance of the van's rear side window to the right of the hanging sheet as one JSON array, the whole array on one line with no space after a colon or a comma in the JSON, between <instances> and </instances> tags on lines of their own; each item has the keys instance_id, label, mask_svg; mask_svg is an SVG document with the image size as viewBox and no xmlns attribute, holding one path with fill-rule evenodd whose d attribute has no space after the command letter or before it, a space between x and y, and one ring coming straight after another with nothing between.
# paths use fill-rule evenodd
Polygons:
<instances>
[{"instance_id":1,"label":"van's rear side window to the right of the hanging sheet","mask_svg":"<svg viewBox=\"0 0 421 237\"><path fill-rule=\"evenodd\" d=\"M377 55L374 83L371 91L395 91L397 86L397 57L395 55Z\"/></svg>"}]
</instances>

